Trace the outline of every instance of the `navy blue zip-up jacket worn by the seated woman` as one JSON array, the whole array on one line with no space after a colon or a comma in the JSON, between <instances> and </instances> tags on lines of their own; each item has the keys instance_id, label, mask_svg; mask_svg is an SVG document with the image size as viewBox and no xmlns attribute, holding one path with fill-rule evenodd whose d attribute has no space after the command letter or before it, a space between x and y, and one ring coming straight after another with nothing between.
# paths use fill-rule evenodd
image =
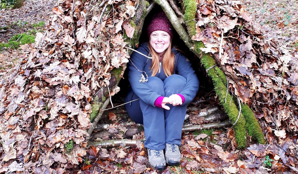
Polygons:
<instances>
[{"instance_id":1,"label":"navy blue zip-up jacket worn by the seated woman","mask_svg":"<svg viewBox=\"0 0 298 174\"><path fill-rule=\"evenodd\" d=\"M140 53L143 53L145 55L149 55L149 48L147 46L147 42L142 43L139 48L137 48L137 51ZM187 83L184 89L181 91L181 95L184 96L185 102L182 105L187 105L193 99L195 98L195 95L198 92L199 89L199 81L198 77L195 74L195 71L191 67L190 61L187 60L187 58L180 52L175 50L175 48L172 48L172 51L175 55L175 68L173 74L178 74L183 76ZM141 79L141 74L143 74L146 78L146 74L148 77L152 75L152 72L150 70L152 59L147 58L137 52L133 52L131 54L131 60L128 62L128 80L131 84L131 88L134 91L134 93L142 99L145 103L154 106L155 100L160 97L159 94L157 94L155 91L153 91L147 84L140 83L139 80ZM139 70L139 71L138 71ZM143 72L140 72L143 71ZM157 72L155 77L159 77L161 80L164 80L167 78L167 76L164 74L164 70L161 66L160 73ZM146 78L147 79L147 78Z\"/></svg>"}]
</instances>

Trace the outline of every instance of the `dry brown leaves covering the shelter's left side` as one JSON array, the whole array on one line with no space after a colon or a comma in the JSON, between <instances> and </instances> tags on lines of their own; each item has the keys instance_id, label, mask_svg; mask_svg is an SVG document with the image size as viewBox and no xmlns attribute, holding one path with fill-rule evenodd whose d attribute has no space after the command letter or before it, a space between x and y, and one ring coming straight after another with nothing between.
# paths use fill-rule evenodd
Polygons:
<instances>
[{"instance_id":1,"label":"dry brown leaves covering the shelter's left side","mask_svg":"<svg viewBox=\"0 0 298 174\"><path fill-rule=\"evenodd\" d=\"M133 8L123 13L117 6L120 1L109 1L114 10L101 17L98 2L72 2L61 1L52 9L46 32L38 33L21 64L4 74L1 171L75 170L86 155L93 95L109 85L112 69L128 62L126 43L120 30L115 32L114 19L130 20ZM119 22L121 29L123 21ZM67 153L70 140L74 147Z\"/></svg>"}]
</instances>

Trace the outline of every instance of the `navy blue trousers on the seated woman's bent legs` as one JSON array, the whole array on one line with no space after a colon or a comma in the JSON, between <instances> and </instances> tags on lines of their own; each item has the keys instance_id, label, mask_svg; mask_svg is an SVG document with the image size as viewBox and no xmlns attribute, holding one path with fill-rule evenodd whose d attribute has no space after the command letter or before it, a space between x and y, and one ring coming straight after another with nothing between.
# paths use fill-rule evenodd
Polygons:
<instances>
[{"instance_id":1,"label":"navy blue trousers on the seated woman's bent legs","mask_svg":"<svg viewBox=\"0 0 298 174\"><path fill-rule=\"evenodd\" d=\"M182 91L186 79L180 75L170 75L164 81L158 77L148 77L147 83L157 94L170 97ZM125 103L138 98L131 90L125 98ZM165 148L165 143L181 145L187 105L166 105L170 110L149 105L141 99L125 104L128 116L136 123L144 125L146 148L162 150Z\"/></svg>"}]
</instances>

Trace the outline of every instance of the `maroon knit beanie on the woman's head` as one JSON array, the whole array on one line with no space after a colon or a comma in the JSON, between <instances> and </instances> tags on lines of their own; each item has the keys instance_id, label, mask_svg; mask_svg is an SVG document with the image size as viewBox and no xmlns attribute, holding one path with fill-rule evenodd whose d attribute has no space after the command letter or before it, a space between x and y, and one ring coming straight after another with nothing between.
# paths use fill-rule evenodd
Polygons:
<instances>
[{"instance_id":1,"label":"maroon knit beanie on the woman's head","mask_svg":"<svg viewBox=\"0 0 298 174\"><path fill-rule=\"evenodd\" d=\"M153 31L157 31L157 30L167 32L170 35L170 37L173 39L173 26L170 23L170 20L167 18L166 14L164 14L164 12L159 12L158 14L153 16L147 28L148 37L150 37L150 34Z\"/></svg>"}]
</instances>

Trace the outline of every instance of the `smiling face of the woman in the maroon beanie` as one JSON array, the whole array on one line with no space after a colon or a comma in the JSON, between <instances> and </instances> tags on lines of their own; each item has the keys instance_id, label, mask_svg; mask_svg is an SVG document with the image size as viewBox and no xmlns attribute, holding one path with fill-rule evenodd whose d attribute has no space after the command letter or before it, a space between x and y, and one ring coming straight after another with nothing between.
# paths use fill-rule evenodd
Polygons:
<instances>
[{"instance_id":1,"label":"smiling face of the woman in the maroon beanie","mask_svg":"<svg viewBox=\"0 0 298 174\"><path fill-rule=\"evenodd\" d=\"M170 46L170 34L165 31L157 30L150 34L150 45L159 54L164 55L166 49Z\"/></svg>"}]
</instances>

